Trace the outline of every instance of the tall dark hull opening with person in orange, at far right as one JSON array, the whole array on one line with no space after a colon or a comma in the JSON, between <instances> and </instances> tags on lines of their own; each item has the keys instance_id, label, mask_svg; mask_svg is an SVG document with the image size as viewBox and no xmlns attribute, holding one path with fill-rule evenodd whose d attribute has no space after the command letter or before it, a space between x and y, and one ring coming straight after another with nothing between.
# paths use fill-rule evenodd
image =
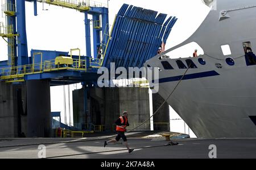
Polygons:
<instances>
[{"instance_id":1,"label":"tall dark hull opening with person in orange, at far right","mask_svg":"<svg viewBox=\"0 0 256 170\"><path fill-rule=\"evenodd\" d=\"M246 65L256 65L256 56L253 53L253 49L251 49L251 42L243 43L243 51L245 51Z\"/></svg>"}]
</instances>

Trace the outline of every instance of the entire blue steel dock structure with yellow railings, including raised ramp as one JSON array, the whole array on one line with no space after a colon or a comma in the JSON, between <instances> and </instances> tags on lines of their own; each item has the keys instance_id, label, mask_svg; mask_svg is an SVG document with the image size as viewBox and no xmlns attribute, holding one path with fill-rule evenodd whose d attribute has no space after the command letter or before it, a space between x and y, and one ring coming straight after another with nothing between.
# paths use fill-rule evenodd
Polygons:
<instances>
[{"instance_id":1,"label":"entire blue steel dock structure with yellow railings, including raised ramp","mask_svg":"<svg viewBox=\"0 0 256 170\"><path fill-rule=\"evenodd\" d=\"M39 49L32 49L28 53L26 1L34 3L35 16L38 15L38 2L84 13L86 55L81 55L79 48L71 49L70 53ZM26 1L5 1L3 10L7 25L0 24L0 36L8 44L8 60L0 61L0 81L23 84L29 81L48 80L51 86L82 82L85 87L85 112L86 87L97 86L98 68L110 68L110 63L115 63L115 67L143 67L143 63L154 57L163 43L166 44L177 20L175 16L167 18L166 14L158 14L157 11L124 4L115 16L112 30L109 32L108 7L97 6L89 0ZM88 19L88 15L92 15L93 28L90 27L91 20ZM73 51L79 51L79 55L72 55ZM27 88L29 87L32 86L27 83Z\"/></svg>"}]
</instances>

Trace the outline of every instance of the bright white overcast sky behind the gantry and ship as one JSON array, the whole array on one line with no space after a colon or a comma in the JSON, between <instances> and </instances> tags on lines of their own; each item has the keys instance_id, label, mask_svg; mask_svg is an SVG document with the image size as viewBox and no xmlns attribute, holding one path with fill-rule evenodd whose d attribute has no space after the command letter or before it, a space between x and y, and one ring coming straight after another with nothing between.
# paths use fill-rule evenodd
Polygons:
<instances>
[{"instance_id":1,"label":"bright white overcast sky behind the gantry and ship","mask_svg":"<svg viewBox=\"0 0 256 170\"><path fill-rule=\"evenodd\" d=\"M107 0L98 0L98 2L108 3ZM167 49L189 38L209 13L209 7L205 6L201 0L110 0L109 23L111 25L123 3L179 18L168 38ZM0 18L0 22L5 23L5 18ZM46 4L43 10L42 3L38 3L38 16L34 16L33 3L26 2L26 22L29 54L31 49L68 52L71 48L80 48L82 55L85 55L84 14ZM0 60L7 60L7 44L3 40L0 40L0 47ZM192 55L195 48L197 47L185 48L183 55L185 57ZM199 53L202 53L200 48ZM52 89L52 93L53 91L55 93L52 94L52 111L63 111L63 99L60 99L63 98L63 88L55 88Z\"/></svg>"}]
</instances>

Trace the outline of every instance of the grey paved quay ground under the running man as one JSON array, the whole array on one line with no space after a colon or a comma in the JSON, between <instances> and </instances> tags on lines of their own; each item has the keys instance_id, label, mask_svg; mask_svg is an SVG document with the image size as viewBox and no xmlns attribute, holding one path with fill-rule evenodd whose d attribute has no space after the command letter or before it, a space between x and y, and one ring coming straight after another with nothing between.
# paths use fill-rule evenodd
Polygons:
<instances>
[{"instance_id":1,"label":"grey paved quay ground under the running man","mask_svg":"<svg viewBox=\"0 0 256 170\"><path fill-rule=\"evenodd\" d=\"M95 137L85 140L96 139ZM76 140L79 141L81 139ZM57 158L65 159L208 159L209 146L214 144L217 147L217 158L256 158L256 139L177 139L175 140L175 142L179 142L177 146L164 146L168 142L162 137L141 138L133 136L128 140L131 147L137 148L131 154L125 150L125 146L121 143L109 144L108 147L104 148L104 140L94 140L90 142L45 144L47 148L46 156L48 158L57 156ZM71 139L0 139L0 158L38 158L38 153L40 152L38 146L40 143L66 141L71 141ZM35 145L5 147L23 144Z\"/></svg>"}]
</instances>

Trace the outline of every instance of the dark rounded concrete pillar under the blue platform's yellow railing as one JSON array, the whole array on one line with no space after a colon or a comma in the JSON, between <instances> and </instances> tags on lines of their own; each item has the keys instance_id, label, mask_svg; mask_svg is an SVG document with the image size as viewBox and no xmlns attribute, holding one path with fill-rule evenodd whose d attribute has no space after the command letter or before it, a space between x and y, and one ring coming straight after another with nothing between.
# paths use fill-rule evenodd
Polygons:
<instances>
[{"instance_id":1,"label":"dark rounded concrete pillar under the blue platform's yellow railing","mask_svg":"<svg viewBox=\"0 0 256 170\"><path fill-rule=\"evenodd\" d=\"M27 81L28 137L51 137L51 93L49 80Z\"/></svg>"}]
</instances>

